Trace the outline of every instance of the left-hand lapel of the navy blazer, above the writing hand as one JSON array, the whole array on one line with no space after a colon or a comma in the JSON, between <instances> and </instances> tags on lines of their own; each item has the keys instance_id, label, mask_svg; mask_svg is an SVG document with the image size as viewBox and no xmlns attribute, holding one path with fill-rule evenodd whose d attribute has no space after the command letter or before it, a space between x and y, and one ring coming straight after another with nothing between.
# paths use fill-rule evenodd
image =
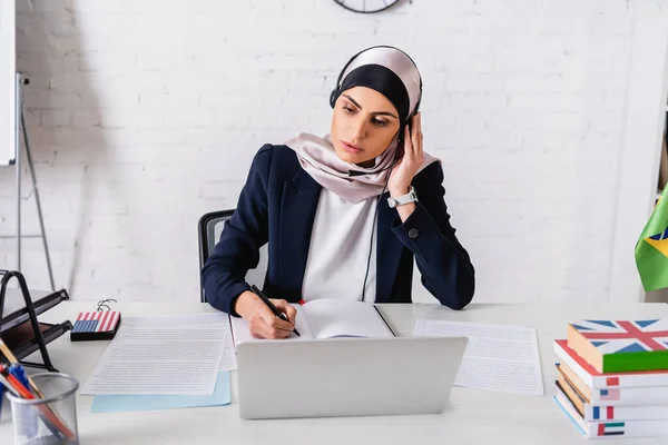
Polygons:
<instances>
[{"instance_id":1,"label":"left-hand lapel of the navy blazer, above the writing hand","mask_svg":"<svg viewBox=\"0 0 668 445\"><path fill-rule=\"evenodd\" d=\"M298 289L299 295L321 189L321 185L299 168L281 198L281 279L287 289Z\"/></svg>"}]
</instances>

